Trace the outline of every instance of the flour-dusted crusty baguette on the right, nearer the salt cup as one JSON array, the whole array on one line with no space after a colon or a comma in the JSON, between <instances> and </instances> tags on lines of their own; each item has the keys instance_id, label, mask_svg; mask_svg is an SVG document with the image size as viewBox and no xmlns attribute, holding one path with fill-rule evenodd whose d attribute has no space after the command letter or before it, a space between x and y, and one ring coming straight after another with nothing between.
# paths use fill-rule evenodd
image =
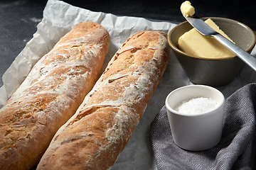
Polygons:
<instances>
[{"instance_id":1,"label":"flour-dusted crusty baguette on the right, nearer the salt cup","mask_svg":"<svg viewBox=\"0 0 256 170\"><path fill-rule=\"evenodd\" d=\"M124 42L37 169L110 169L142 118L170 52L166 33L159 31L138 32Z\"/></svg>"}]
</instances>

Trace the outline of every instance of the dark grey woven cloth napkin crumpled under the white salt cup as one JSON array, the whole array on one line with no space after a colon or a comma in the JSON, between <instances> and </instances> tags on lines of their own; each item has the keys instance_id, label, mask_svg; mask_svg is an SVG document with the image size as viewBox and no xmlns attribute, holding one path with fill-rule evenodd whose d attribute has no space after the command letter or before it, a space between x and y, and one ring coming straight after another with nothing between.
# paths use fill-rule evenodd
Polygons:
<instances>
[{"instance_id":1,"label":"dark grey woven cloth napkin crumpled under the white salt cup","mask_svg":"<svg viewBox=\"0 0 256 170\"><path fill-rule=\"evenodd\" d=\"M247 84L225 101L222 139L215 147L191 152L171 136L166 107L150 128L151 147L158 169L256 169L256 84Z\"/></svg>"}]
</instances>

